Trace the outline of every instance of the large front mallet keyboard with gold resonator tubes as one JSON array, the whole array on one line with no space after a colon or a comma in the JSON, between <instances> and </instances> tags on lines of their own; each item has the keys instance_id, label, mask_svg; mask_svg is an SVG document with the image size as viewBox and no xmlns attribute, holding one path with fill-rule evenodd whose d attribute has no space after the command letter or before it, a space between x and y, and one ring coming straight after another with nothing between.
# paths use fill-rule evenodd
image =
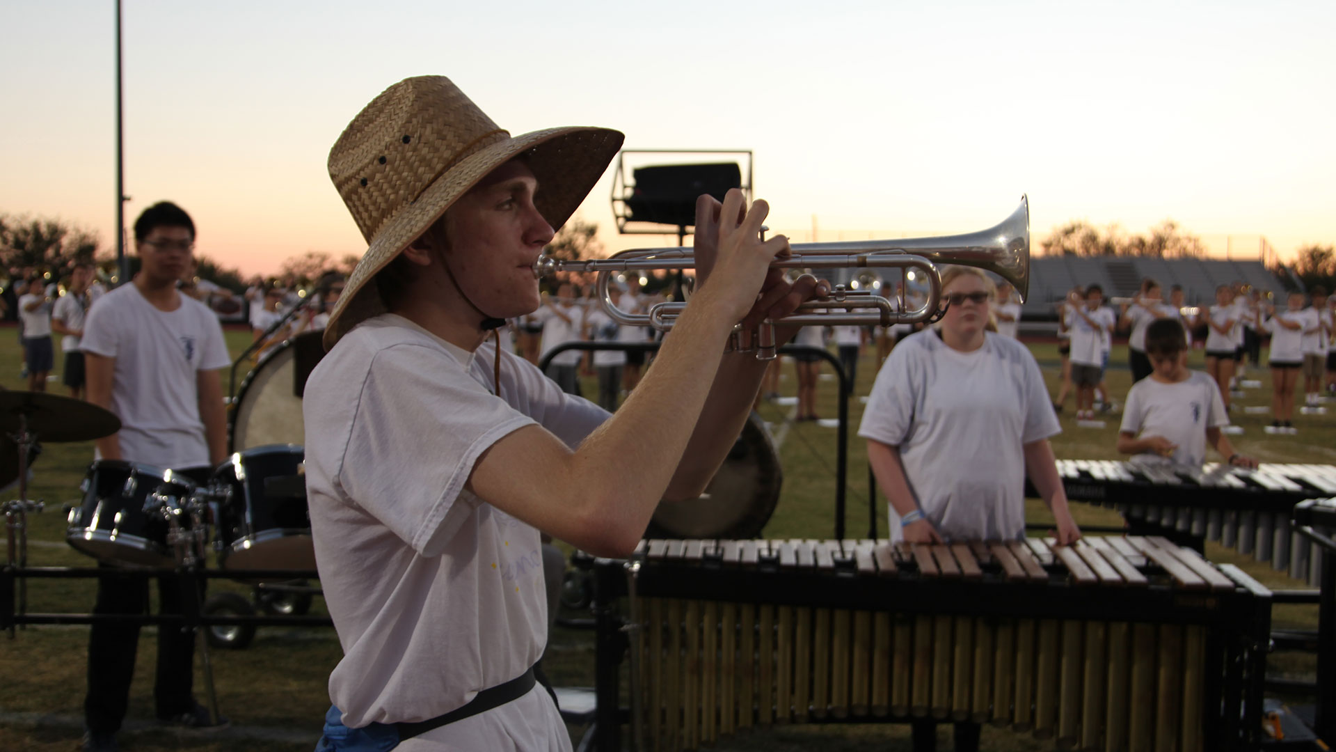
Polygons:
<instances>
[{"instance_id":1,"label":"large front mallet keyboard with gold resonator tubes","mask_svg":"<svg viewBox=\"0 0 1336 752\"><path fill-rule=\"evenodd\" d=\"M595 565L595 613L601 749L629 649L644 749L933 717L1190 752L1256 748L1271 593L1162 538L648 541Z\"/></svg>"}]
</instances>

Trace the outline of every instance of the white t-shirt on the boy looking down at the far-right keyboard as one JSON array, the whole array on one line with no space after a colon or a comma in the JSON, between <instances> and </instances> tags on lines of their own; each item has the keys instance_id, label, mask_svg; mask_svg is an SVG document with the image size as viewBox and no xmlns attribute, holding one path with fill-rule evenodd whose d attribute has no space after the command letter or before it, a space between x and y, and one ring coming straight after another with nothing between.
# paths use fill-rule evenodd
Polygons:
<instances>
[{"instance_id":1,"label":"white t-shirt on the boy looking down at the far-right keyboard","mask_svg":"<svg viewBox=\"0 0 1336 752\"><path fill-rule=\"evenodd\" d=\"M1220 387L1210 376L1189 371L1185 381L1165 384L1154 376L1142 379L1128 391L1122 407L1125 434L1140 438L1164 436L1178 448L1173 463L1200 468L1206 462L1206 428L1229 426L1229 413L1220 399ZM1137 460L1162 463L1170 458L1137 455Z\"/></svg>"}]
</instances>

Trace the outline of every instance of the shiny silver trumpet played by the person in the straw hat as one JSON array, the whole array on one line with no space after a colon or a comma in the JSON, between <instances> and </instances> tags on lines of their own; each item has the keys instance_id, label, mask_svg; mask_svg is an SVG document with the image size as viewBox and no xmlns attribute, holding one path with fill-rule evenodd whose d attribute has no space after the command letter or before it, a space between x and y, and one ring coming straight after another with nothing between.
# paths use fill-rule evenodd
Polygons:
<instances>
[{"instance_id":1,"label":"shiny silver trumpet played by the person in the straw hat","mask_svg":"<svg viewBox=\"0 0 1336 752\"><path fill-rule=\"evenodd\" d=\"M1030 289L1030 202L1021 197L1021 206L1001 223L962 236L931 238L898 238L884 241L850 241L794 244L787 258L776 258L772 269L916 269L929 280L927 298L918 308L903 310L872 290L850 290L836 285L826 300L812 300L778 320L766 318L755 332L735 326L732 347L755 349L759 360L775 357L775 325L835 326L919 324L934 321L942 313L942 276L937 264L957 264L993 272L1011 282L1023 301ZM653 326L672 331L673 321L685 302L660 302L648 313L629 314L609 297L613 273L652 269L695 269L689 248L649 248L624 250L608 258L558 261L540 257L533 265L536 277L558 272L597 272L599 301L613 321L624 326ZM898 309L899 308L899 309Z\"/></svg>"}]
</instances>

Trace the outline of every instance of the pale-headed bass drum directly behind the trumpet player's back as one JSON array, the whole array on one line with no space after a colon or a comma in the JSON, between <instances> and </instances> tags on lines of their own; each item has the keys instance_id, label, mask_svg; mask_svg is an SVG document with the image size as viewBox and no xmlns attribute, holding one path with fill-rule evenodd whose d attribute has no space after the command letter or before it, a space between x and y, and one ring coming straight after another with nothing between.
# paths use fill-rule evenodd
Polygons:
<instances>
[{"instance_id":1,"label":"pale-headed bass drum directly behind the trumpet player's back","mask_svg":"<svg viewBox=\"0 0 1336 752\"><path fill-rule=\"evenodd\" d=\"M306 332L275 345L246 375L228 416L228 452L306 443L302 392L315 363L325 355L322 333Z\"/></svg>"}]
</instances>

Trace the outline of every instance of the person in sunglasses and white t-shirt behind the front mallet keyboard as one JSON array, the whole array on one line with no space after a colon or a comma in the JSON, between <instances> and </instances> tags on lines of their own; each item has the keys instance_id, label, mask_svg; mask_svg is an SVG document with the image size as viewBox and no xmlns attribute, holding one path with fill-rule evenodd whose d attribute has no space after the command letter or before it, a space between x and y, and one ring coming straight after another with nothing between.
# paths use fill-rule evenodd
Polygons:
<instances>
[{"instance_id":1,"label":"person in sunglasses and white t-shirt behind the front mallet keyboard","mask_svg":"<svg viewBox=\"0 0 1336 752\"><path fill-rule=\"evenodd\" d=\"M858 435L890 502L891 541L1022 538L1027 471L1058 542L1081 537L1049 446L1061 428L1043 375L1023 344L985 331L993 294L982 272L949 268L941 328L904 337L876 375ZM935 748L934 728L914 723L915 752ZM978 724L957 724L955 749L978 745Z\"/></svg>"}]
</instances>

